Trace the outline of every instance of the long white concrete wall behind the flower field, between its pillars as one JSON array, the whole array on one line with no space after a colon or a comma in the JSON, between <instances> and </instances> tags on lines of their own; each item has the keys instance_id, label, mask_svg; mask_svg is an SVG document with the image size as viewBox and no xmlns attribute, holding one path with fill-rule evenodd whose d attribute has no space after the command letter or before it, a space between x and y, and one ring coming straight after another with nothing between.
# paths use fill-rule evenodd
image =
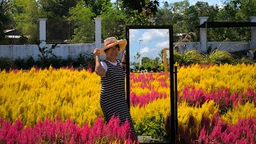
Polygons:
<instances>
[{"instance_id":1,"label":"long white concrete wall behind the flower field, between its pillars","mask_svg":"<svg viewBox=\"0 0 256 144\"><path fill-rule=\"evenodd\" d=\"M176 42L174 42L174 45ZM47 45L46 45L47 46ZM48 45L50 47L50 45ZM81 53L91 54L94 52L95 43L87 44L58 44L59 47L53 50L53 53L66 59L77 58ZM102 44L102 47L104 45ZM207 46L211 47L212 50L218 48L218 50L226 50L228 52L234 52L239 50L250 50L250 47L256 48L256 42L207 42ZM179 52L186 50L199 50L200 42L181 42L178 44ZM38 54L41 54L38 50L37 45L0 45L0 57L4 58L30 58L33 57L35 60L38 59ZM105 58L104 56L101 59ZM118 59L122 58L122 54L119 55Z\"/></svg>"}]
</instances>

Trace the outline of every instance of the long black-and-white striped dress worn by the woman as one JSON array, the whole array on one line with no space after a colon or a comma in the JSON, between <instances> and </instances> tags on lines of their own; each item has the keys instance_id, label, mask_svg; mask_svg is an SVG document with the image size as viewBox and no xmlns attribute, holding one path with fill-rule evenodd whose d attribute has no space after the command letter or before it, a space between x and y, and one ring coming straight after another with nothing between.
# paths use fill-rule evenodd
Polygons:
<instances>
[{"instance_id":1,"label":"long black-and-white striped dress worn by the woman","mask_svg":"<svg viewBox=\"0 0 256 144\"><path fill-rule=\"evenodd\" d=\"M120 62L114 66L110 62L106 62L106 76L101 78L102 88L100 95L100 104L102 112L106 118L106 122L114 115L119 116L121 124L130 122L131 131L134 133L134 126L130 117L130 111L126 102L125 77L126 73L122 70ZM135 134L135 133L134 133Z\"/></svg>"}]
</instances>

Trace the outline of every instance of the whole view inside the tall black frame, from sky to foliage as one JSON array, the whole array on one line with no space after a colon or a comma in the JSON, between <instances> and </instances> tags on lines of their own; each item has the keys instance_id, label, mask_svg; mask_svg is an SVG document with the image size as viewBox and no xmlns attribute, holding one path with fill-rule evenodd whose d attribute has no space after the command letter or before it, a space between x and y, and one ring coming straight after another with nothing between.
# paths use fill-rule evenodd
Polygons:
<instances>
[{"instance_id":1,"label":"whole view inside the tall black frame, from sky to foliage","mask_svg":"<svg viewBox=\"0 0 256 144\"><path fill-rule=\"evenodd\" d=\"M126 74L126 96L138 135L151 134L160 139L166 137L166 129L162 124L170 114L170 94L174 90L170 89L174 88L174 78L169 73L173 70L170 68L170 63L173 64L173 60L170 60L173 58L170 58L170 54L173 54L170 53L173 50L170 49L170 35L172 29L167 26L128 27L126 30L127 66L130 68L130 73ZM168 71L165 73L166 67ZM148 126L149 120L157 123L157 126ZM157 131L159 133L154 133Z\"/></svg>"}]
</instances>

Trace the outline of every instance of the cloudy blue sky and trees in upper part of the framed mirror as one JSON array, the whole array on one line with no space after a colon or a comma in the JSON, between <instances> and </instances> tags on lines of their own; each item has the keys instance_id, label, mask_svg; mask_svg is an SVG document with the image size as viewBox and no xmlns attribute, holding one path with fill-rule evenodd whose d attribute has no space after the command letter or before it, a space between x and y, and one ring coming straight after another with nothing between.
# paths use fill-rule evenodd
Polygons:
<instances>
[{"instance_id":1,"label":"cloudy blue sky and trees in upper part of the framed mirror","mask_svg":"<svg viewBox=\"0 0 256 144\"><path fill-rule=\"evenodd\" d=\"M163 71L163 49L170 46L169 29L130 29L129 33L130 72Z\"/></svg>"}]
</instances>

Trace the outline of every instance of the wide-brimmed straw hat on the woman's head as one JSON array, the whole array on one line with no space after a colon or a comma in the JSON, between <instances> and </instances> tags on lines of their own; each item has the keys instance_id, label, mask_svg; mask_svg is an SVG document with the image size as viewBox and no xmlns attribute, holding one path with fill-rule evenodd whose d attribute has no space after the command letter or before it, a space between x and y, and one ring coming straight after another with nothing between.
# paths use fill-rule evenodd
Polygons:
<instances>
[{"instance_id":1,"label":"wide-brimmed straw hat on the woman's head","mask_svg":"<svg viewBox=\"0 0 256 144\"><path fill-rule=\"evenodd\" d=\"M115 37L106 38L104 40L104 47L100 50L100 52L101 52L101 54L106 55L104 50L106 50L112 46L115 46L115 45L119 45L119 48L120 48L119 52L121 52L122 50L124 50L126 48L126 44L127 44L127 41L125 39L117 40L117 38L115 38Z\"/></svg>"}]
</instances>

